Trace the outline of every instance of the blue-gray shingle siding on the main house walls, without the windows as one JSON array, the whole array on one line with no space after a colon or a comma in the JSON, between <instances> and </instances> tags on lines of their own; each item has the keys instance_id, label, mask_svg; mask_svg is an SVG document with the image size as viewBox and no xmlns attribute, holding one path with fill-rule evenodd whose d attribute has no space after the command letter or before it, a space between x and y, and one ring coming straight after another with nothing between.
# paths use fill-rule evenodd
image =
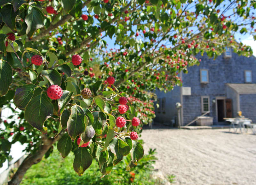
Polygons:
<instances>
[{"instance_id":1,"label":"blue-gray shingle siding on the main house walls, without the windows","mask_svg":"<svg viewBox=\"0 0 256 185\"><path fill-rule=\"evenodd\" d=\"M210 97L210 113L207 116L213 117L213 123L217 124L216 103L212 103L212 100L217 96L226 97L232 99L233 116L236 116L237 100L236 94L233 92L227 92L226 83L245 83L244 70L252 70L252 83L256 83L256 59L254 56L249 58L244 56L238 56L232 53L232 57L224 59L223 55L217 57L215 60L209 58L207 55L197 55L198 59L201 59L199 66L188 67L188 74L182 73L182 80L184 87L191 87L191 95L183 96L183 125L191 122L197 116L202 115L201 112L201 96ZM208 70L209 83L200 83L200 69ZM177 90L179 89L179 90ZM157 91L158 97L171 98L166 99L166 107L169 106L173 109L173 105L176 102L180 102L180 96L177 97L177 93L180 92L180 87L174 88L173 91L166 94ZM231 90L230 90L231 91ZM176 95L175 95L176 94ZM255 96L252 96L255 97ZM250 97L251 98L251 97ZM254 98L255 100L255 98ZM252 101L254 101L252 100ZM256 100L255 100L256 101ZM252 108L256 107L256 103ZM175 109L175 106L174 106ZM248 109L245 109L245 112ZM255 109L254 109L255 110ZM173 112L176 110L169 110L166 115L156 114L156 120L170 120L172 119ZM245 114L243 111L243 114ZM251 119L251 118L250 118ZM253 118L254 119L254 118ZM255 120L256 121L256 120Z\"/></svg>"}]
</instances>

